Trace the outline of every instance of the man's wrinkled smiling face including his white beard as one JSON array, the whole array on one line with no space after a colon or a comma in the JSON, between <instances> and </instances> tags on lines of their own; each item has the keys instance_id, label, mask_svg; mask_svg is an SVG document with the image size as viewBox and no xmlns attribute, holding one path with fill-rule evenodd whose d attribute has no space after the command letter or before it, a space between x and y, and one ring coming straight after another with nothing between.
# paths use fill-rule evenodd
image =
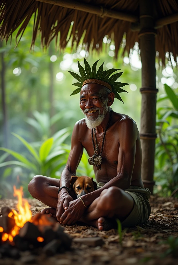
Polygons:
<instances>
[{"instance_id":1,"label":"man's wrinkled smiling face including his white beard","mask_svg":"<svg viewBox=\"0 0 178 265\"><path fill-rule=\"evenodd\" d=\"M102 93L103 86L90 83L82 87L80 92L80 108L85 115L88 128L101 124L108 111L108 98Z\"/></svg>"}]
</instances>

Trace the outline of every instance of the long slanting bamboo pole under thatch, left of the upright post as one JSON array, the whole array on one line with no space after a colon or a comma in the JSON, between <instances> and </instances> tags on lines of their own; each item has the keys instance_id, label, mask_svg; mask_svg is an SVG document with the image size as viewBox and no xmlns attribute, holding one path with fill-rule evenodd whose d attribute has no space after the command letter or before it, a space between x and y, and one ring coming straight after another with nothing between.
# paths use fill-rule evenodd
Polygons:
<instances>
[{"instance_id":1,"label":"long slanting bamboo pole under thatch, left of the upright post","mask_svg":"<svg viewBox=\"0 0 178 265\"><path fill-rule=\"evenodd\" d=\"M129 22L137 22L139 18L135 15L126 14L119 11L114 11L112 9L104 8L101 6L94 6L87 3L81 3L73 0L35 0L38 2L48 3L56 6L62 6L67 8L72 8L91 14L99 15L101 17L112 17L115 19L121 19Z\"/></svg>"}]
</instances>

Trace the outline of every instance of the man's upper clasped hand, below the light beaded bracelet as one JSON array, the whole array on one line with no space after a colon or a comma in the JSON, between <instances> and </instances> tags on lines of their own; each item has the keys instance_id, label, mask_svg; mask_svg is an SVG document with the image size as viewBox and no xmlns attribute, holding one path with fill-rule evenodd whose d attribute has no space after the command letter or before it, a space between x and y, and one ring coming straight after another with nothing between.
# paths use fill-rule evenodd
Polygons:
<instances>
[{"instance_id":1,"label":"man's upper clasped hand, below the light beaded bracelet","mask_svg":"<svg viewBox=\"0 0 178 265\"><path fill-rule=\"evenodd\" d=\"M68 209L64 211L59 222L61 224L73 224L80 220L84 211L85 206L79 198L74 201L70 201Z\"/></svg>"}]
</instances>

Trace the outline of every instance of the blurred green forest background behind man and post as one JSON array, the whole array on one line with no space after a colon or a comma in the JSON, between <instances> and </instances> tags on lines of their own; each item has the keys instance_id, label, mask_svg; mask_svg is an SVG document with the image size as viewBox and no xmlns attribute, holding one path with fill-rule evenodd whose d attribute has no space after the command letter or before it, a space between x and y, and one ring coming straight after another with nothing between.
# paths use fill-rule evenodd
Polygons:
<instances>
[{"instance_id":1,"label":"blurred green forest background behind man and post","mask_svg":"<svg viewBox=\"0 0 178 265\"><path fill-rule=\"evenodd\" d=\"M72 25L71 25L72 27ZM72 129L83 118L79 107L79 94L70 97L76 80L67 72L78 71L77 60L90 65L97 59L104 70L119 68L124 73L120 82L129 83L121 101L115 100L113 110L124 113L136 121L140 129L141 113L141 58L138 43L130 54L124 54L126 39L123 36L118 58L114 59L114 43L103 38L100 53L86 51L85 45L72 50L55 49L55 42L42 50L40 36L34 51L29 51L32 38L30 23L20 40L15 43L15 33L10 41L1 42L1 113L0 113L0 198L13 197L13 185L23 185L29 197L28 183L34 175L42 174L60 178L68 154ZM170 196L178 188L178 70L172 56L165 68L159 62L157 69L157 134L155 150L156 185L154 193ZM158 63L159 62L159 63ZM171 65L172 64L172 65ZM88 155L83 153L78 175L94 176L88 165ZM174 192L177 196L178 193Z\"/></svg>"}]
</instances>

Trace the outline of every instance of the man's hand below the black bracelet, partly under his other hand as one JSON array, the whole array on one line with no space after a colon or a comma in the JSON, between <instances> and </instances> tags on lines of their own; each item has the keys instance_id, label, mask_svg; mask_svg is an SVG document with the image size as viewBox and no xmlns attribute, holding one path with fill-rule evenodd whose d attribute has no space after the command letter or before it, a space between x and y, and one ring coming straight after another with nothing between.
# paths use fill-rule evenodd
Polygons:
<instances>
[{"instance_id":1,"label":"man's hand below the black bracelet, partly under his other hand","mask_svg":"<svg viewBox=\"0 0 178 265\"><path fill-rule=\"evenodd\" d=\"M73 198L69 195L68 191L61 189L58 195L58 203L56 208L56 217L58 222L61 218L61 215L64 213L64 210L68 209L70 201L73 201Z\"/></svg>"}]
</instances>

